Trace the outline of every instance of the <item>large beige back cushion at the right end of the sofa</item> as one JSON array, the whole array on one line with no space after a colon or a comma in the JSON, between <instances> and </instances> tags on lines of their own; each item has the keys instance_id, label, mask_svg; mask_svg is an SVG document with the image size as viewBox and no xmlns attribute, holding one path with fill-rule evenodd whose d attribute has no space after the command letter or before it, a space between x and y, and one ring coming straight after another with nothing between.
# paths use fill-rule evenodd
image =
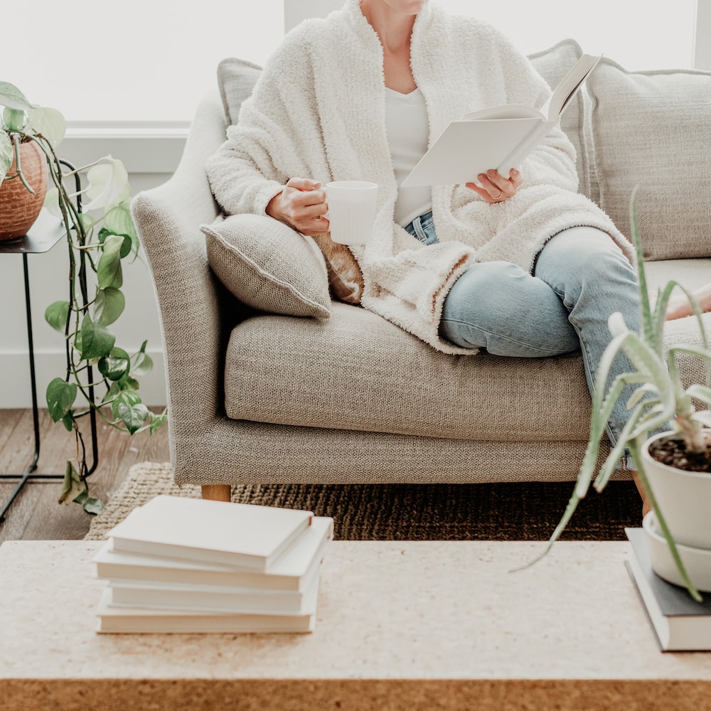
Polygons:
<instances>
[{"instance_id":1,"label":"large beige back cushion at the right end of the sofa","mask_svg":"<svg viewBox=\"0 0 711 711\"><path fill-rule=\"evenodd\" d=\"M648 260L711 257L711 73L628 72L603 58L587 81L599 202Z\"/></svg>"}]
</instances>

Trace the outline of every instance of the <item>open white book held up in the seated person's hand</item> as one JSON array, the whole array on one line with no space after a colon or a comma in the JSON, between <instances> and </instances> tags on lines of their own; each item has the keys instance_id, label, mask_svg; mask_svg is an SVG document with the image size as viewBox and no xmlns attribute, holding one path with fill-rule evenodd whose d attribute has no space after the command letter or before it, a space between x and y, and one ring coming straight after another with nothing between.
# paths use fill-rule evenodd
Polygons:
<instances>
[{"instance_id":1,"label":"open white book held up in the seated person's hand","mask_svg":"<svg viewBox=\"0 0 711 711\"><path fill-rule=\"evenodd\" d=\"M453 121L434 141L402 187L477 181L495 168L504 178L518 168L560 120L600 57L582 55L540 109L523 104L481 109Z\"/></svg>"}]
</instances>

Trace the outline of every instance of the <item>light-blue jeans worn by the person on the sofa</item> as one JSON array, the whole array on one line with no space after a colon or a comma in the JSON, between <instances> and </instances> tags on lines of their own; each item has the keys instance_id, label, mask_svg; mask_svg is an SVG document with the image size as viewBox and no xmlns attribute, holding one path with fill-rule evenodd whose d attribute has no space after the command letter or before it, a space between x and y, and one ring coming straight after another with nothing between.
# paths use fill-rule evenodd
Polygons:
<instances>
[{"instance_id":1,"label":"light-blue jeans worn by the person on the sofa","mask_svg":"<svg viewBox=\"0 0 711 711\"><path fill-rule=\"evenodd\" d=\"M437 241L431 213L406 229L418 236L418 228L423 228L426 244ZM592 393L597 364L611 339L607 319L614 311L621 311L632 331L639 330L634 269L609 235L577 227L546 242L533 274L509 262L469 267L444 300L439 334L462 348L518 358L582 351ZM609 383L631 368L625 355L617 355ZM632 390L626 387L610 418L607 434L613 444L626 422L624 403Z\"/></svg>"}]
</instances>

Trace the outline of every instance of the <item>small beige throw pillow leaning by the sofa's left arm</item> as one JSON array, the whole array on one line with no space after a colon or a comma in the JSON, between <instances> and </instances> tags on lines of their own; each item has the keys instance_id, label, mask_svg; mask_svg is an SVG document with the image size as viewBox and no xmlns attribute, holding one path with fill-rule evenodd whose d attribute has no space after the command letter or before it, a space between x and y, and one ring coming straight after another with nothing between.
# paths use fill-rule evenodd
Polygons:
<instances>
[{"instance_id":1,"label":"small beige throw pillow leaning by the sofa's left arm","mask_svg":"<svg viewBox=\"0 0 711 711\"><path fill-rule=\"evenodd\" d=\"M210 267L243 304L270 314L331 314L326 264L310 237L260 215L220 217L201 230Z\"/></svg>"}]
</instances>

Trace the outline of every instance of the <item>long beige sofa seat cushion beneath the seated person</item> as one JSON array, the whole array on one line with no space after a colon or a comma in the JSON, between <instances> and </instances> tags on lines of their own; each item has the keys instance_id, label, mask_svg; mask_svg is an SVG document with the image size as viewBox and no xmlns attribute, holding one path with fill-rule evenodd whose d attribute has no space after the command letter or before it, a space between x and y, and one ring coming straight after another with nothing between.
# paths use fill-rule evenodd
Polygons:
<instances>
[{"instance_id":1,"label":"long beige sofa seat cushion beneath the seated person","mask_svg":"<svg viewBox=\"0 0 711 711\"><path fill-rule=\"evenodd\" d=\"M582 358L445 355L338 302L317 321L260 315L230 334L232 419L450 439L560 442L589 435Z\"/></svg>"}]
</instances>

